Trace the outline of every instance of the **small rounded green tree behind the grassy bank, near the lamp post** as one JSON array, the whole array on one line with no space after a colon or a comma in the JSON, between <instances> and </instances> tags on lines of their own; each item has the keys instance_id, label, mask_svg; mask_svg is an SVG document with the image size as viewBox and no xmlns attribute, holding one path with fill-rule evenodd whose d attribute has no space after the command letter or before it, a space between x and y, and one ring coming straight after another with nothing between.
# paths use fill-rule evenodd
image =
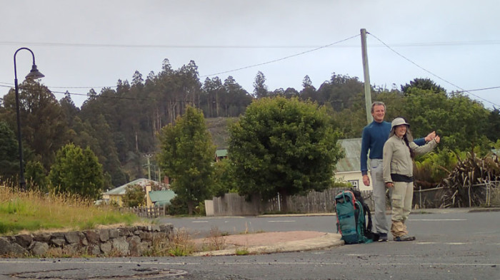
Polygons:
<instances>
[{"instance_id":1,"label":"small rounded green tree behind the grassy bank, near the lamp post","mask_svg":"<svg viewBox=\"0 0 500 280\"><path fill-rule=\"evenodd\" d=\"M69 192L92 199L98 199L104 187L102 165L94 152L89 147L83 150L72 143L57 151L49 180L56 192Z\"/></svg>"}]
</instances>

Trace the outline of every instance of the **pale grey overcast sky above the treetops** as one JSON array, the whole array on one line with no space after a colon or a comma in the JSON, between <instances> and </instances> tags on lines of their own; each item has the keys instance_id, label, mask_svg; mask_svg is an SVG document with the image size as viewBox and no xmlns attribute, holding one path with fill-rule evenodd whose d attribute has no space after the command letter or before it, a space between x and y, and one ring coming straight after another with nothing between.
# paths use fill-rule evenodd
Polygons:
<instances>
[{"instance_id":1,"label":"pale grey overcast sky above the treetops","mask_svg":"<svg viewBox=\"0 0 500 280\"><path fill-rule=\"evenodd\" d=\"M78 106L90 88L158 73L164 58L174 69L194 60L202 83L231 71L216 76L249 93L258 71L269 90L300 91L306 75L316 88L332 73L364 81L366 28L371 85L431 78L500 108L499 12L498 0L0 0L0 97L14 87L21 47L34 51L41 83L58 100L76 93ZM16 55L19 82L31 59Z\"/></svg>"}]
</instances>

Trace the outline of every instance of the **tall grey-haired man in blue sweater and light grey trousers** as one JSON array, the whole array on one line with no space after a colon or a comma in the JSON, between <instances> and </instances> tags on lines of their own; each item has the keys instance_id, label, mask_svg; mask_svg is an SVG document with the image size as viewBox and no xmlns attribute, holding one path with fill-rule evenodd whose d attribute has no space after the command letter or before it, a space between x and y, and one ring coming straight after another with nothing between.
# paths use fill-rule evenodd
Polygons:
<instances>
[{"instance_id":1,"label":"tall grey-haired man in blue sweater and light grey trousers","mask_svg":"<svg viewBox=\"0 0 500 280\"><path fill-rule=\"evenodd\" d=\"M371 104L371 115L374 121L363 129L361 138L361 174L363 175L363 183L365 186L370 185L368 177L367 155L370 151L370 171L373 182L373 195L375 202L374 212L374 232L379 234L380 241L387 241L387 232L389 232L389 224L386 219L386 186L382 177L382 154L384 143L389 138L391 131L391 123L384 121L386 115L386 105L376 101ZM433 131L426 138L414 140L416 145L424 145L436 137Z\"/></svg>"}]
</instances>

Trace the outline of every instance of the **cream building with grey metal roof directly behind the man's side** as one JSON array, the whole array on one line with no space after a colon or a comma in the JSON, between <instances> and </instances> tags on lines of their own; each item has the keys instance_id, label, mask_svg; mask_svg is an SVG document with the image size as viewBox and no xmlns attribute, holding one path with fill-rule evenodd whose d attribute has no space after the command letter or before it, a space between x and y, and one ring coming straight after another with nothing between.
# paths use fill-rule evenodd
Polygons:
<instances>
[{"instance_id":1,"label":"cream building with grey metal roof directly behind the man's side","mask_svg":"<svg viewBox=\"0 0 500 280\"><path fill-rule=\"evenodd\" d=\"M371 178L370 185L365 186L363 184L363 175L361 175L361 138L342 139L339 140L339 144L344 149L345 156L337 162L336 180L349 182L359 190L372 190Z\"/></svg>"}]
</instances>

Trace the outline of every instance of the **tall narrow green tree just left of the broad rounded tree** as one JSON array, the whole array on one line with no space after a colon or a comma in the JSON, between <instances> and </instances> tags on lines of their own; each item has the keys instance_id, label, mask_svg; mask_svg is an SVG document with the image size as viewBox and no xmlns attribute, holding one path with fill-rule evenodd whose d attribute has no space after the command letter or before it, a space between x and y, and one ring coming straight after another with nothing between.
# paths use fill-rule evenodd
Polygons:
<instances>
[{"instance_id":1,"label":"tall narrow green tree just left of the broad rounded tree","mask_svg":"<svg viewBox=\"0 0 500 280\"><path fill-rule=\"evenodd\" d=\"M184 115L161 130L158 162L173 180L172 190L188 206L194 207L211 196L215 146L206 130L201 110L187 106Z\"/></svg>"}]
</instances>

